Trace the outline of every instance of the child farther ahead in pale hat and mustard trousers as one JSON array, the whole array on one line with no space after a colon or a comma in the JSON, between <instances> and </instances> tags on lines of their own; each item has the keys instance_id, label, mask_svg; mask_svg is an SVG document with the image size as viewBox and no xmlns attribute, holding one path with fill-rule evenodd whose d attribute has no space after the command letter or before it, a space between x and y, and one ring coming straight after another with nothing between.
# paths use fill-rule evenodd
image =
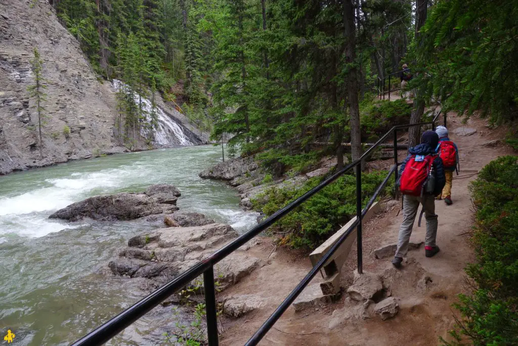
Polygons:
<instances>
[{"instance_id":1,"label":"child farther ahead in pale hat and mustard trousers","mask_svg":"<svg viewBox=\"0 0 518 346\"><path fill-rule=\"evenodd\" d=\"M443 199L444 203L451 205L453 203L451 197L453 171L457 171L458 174L458 148L457 145L448 138L447 128L444 126L438 126L437 129L435 129L435 132L439 136L439 144L437 145L436 151L442 159L444 174L446 176L446 184L444 185L442 192L437 196L437 199Z\"/></svg>"}]
</instances>

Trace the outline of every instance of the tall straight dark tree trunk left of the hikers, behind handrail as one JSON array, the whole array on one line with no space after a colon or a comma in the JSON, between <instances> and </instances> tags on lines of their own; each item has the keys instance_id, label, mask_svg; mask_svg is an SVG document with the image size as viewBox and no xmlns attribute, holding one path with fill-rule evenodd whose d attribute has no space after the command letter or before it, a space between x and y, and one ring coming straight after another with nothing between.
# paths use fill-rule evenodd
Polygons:
<instances>
[{"instance_id":1,"label":"tall straight dark tree trunk left of the hikers, behind handrail","mask_svg":"<svg viewBox=\"0 0 518 346\"><path fill-rule=\"evenodd\" d=\"M356 27L354 24L354 4L352 0L343 1L343 26L346 39L346 63L351 69L348 75L348 99L349 117L351 126L352 159L356 160L362 156L362 139L359 127L359 106L358 106L358 75L354 65L356 60Z\"/></svg>"}]
</instances>

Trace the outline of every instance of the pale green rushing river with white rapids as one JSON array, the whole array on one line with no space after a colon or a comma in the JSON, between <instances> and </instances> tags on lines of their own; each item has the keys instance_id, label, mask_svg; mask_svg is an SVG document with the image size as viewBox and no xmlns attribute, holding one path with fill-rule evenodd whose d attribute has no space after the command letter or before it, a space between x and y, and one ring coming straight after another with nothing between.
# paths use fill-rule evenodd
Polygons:
<instances>
[{"instance_id":1,"label":"pale green rushing river with white rapids","mask_svg":"<svg viewBox=\"0 0 518 346\"><path fill-rule=\"evenodd\" d=\"M100 273L128 238L155 228L142 221L65 223L57 209L104 193L143 191L169 183L182 192L178 206L242 231L255 215L239 209L236 192L198 177L217 163L219 149L184 147L131 153L0 177L0 330L13 344L68 344L142 297L134 280ZM151 316L113 344L153 343ZM151 332L150 332L151 333Z\"/></svg>"}]
</instances>

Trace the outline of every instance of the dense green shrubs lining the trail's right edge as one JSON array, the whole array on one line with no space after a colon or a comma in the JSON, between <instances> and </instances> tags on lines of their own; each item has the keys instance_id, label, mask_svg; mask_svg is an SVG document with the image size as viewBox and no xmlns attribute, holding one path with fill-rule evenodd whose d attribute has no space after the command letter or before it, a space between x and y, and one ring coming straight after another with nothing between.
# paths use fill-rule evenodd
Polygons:
<instances>
[{"instance_id":1,"label":"dense green shrubs lining the trail's right edge","mask_svg":"<svg viewBox=\"0 0 518 346\"><path fill-rule=\"evenodd\" d=\"M450 331L461 345L518 344L518 157L484 167L470 190L476 208L472 242L477 261L466 268L477 288L459 295L462 320Z\"/></svg>"}]
</instances>

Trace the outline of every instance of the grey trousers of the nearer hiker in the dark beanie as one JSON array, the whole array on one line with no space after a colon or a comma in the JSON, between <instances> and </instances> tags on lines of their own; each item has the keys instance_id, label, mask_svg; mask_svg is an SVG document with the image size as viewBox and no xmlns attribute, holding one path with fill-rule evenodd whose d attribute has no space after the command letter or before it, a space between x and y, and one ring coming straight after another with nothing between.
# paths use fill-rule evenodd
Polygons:
<instances>
[{"instance_id":1,"label":"grey trousers of the nearer hiker in the dark beanie","mask_svg":"<svg viewBox=\"0 0 518 346\"><path fill-rule=\"evenodd\" d=\"M405 257L408 252L408 242L412 234L415 216L418 213L419 204L424 207L426 218L425 246L435 246L437 237L437 215L435 214L435 197L425 195L423 198L403 196L403 222L399 227L399 238L395 257Z\"/></svg>"}]
</instances>

